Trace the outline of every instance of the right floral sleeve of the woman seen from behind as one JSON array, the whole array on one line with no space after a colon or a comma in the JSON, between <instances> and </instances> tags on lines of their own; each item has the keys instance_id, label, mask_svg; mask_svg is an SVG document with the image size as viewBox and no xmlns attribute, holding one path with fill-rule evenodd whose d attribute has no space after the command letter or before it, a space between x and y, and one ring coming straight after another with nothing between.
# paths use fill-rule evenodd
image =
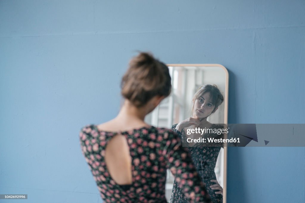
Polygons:
<instances>
[{"instance_id":1,"label":"right floral sleeve of the woman seen from behind","mask_svg":"<svg viewBox=\"0 0 305 203\"><path fill-rule=\"evenodd\" d=\"M189 202L211 202L188 149L182 147L181 138L174 132L168 133L168 136L169 139L166 142L167 168L175 176L185 197Z\"/></svg>"}]
</instances>

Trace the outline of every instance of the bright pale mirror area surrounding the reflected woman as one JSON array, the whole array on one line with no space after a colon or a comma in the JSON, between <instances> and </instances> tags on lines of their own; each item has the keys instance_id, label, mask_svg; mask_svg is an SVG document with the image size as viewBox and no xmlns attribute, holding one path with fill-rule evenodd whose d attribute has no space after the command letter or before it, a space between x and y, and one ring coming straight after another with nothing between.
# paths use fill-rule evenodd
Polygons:
<instances>
[{"instance_id":1,"label":"bright pale mirror area surrounding the reflected woman","mask_svg":"<svg viewBox=\"0 0 305 203\"><path fill-rule=\"evenodd\" d=\"M192 98L204 84L216 85L224 101L207 121L212 124L228 123L228 71L219 64L168 64L172 78L172 91L145 121L156 127L171 128L173 124L191 117ZM223 202L226 202L227 147L216 150L215 175L223 188ZM215 157L215 159L216 159ZM215 161L214 161L215 162ZM213 163L215 164L215 163ZM211 171L210 171L211 172ZM167 171L166 197L170 201L174 177ZM217 190L215 190L217 191Z\"/></svg>"}]
</instances>

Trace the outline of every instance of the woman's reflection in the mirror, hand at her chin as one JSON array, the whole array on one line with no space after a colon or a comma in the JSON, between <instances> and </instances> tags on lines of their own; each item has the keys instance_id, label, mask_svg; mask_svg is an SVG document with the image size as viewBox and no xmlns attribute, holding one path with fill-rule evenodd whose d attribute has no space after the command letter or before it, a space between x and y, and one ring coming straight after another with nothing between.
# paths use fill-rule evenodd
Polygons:
<instances>
[{"instance_id":1,"label":"woman's reflection in the mirror, hand at her chin","mask_svg":"<svg viewBox=\"0 0 305 203\"><path fill-rule=\"evenodd\" d=\"M223 189L216 180L214 169L219 151L223 145L208 142L187 142L187 140L190 140L188 138L223 138L223 134L215 133L214 130L219 131L224 127L207 121L207 118L218 109L223 100L224 97L217 86L203 85L199 87L192 99L192 117L172 126L172 130L177 132L181 136L184 145L188 146L196 169L203 179L213 202L222 202ZM213 132L205 134L202 132L185 133L191 132L190 129L195 128L213 129ZM172 203L189 202L178 185L175 179L170 201Z\"/></svg>"}]
</instances>

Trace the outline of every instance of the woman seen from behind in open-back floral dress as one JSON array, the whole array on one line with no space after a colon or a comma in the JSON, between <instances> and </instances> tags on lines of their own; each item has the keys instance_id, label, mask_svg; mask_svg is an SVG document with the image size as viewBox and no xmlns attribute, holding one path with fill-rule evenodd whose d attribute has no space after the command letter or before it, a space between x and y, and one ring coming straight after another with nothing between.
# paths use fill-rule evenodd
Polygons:
<instances>
[{"instance_id":1,"label":"woman seen from behind in open-back floral dress","mask_svg":"<svg viewBox=\"0 0 305 203\"><path fill-rule=\"evenodd\" d=\"M168 67L151 54L130 62L121 88L119 114L80 132L81 149L106 202L167 202L166 169L190 202L210 202L187 148L172 130L156 128L144 117L170 94Z\"/></svg>"}]
</instances>

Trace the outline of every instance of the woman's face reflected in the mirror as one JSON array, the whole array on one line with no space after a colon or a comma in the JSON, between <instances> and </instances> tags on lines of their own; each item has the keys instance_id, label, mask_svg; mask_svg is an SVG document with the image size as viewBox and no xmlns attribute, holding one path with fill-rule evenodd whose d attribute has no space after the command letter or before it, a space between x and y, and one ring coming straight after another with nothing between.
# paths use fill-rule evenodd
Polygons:
<instances>
[{"instance_id":1,"label":"woman's face reflected in the mirror","mask_svg":"<svg viewBox=\"0 0 305 203\"><path fill-rule=\"evenodd\" d=\"M195 100L193 115L199 118L208 117L214 110L215 105L210 100L210 93L204 93Z\"/></svg>"}]
</instances>

